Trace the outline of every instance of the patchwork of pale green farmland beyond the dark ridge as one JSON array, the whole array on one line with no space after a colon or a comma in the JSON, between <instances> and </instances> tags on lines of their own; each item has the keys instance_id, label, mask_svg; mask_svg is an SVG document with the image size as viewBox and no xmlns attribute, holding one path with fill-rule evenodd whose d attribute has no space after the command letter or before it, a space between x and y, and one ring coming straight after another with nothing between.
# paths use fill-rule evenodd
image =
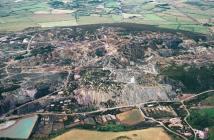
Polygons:
<instances>
[{"instance_id":1,"label":"patchwork of pale green farmland beyond the dark ridge","mask_svg":"<svg viewBox=\"0 0 214 140\"><path fill-rule=\"evenodd\" d=\"M214 25L214 4L203 0L3 0L0 7L1 32L129 22L212 34Z\"/></svg>"}]
</instances>

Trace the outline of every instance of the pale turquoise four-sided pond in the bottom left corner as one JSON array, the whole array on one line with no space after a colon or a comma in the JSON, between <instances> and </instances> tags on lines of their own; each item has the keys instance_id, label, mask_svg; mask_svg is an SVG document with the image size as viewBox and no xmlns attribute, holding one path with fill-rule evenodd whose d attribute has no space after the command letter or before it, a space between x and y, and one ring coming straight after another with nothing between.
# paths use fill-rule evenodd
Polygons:
<instances>
[{"instance_id":1,"label":"pale turquoise four-sided pond in the bottom left corner","mask_svg":"<svg viewBox=\"0 0 214 140\"><path fill-rule=\"evenodd\" d=\"M16 138L16 139L28 139L35 124L38 116L32 116L20 119L15 125L1 130L0 137L3 138Z\"/></svg>"}]
</instances>

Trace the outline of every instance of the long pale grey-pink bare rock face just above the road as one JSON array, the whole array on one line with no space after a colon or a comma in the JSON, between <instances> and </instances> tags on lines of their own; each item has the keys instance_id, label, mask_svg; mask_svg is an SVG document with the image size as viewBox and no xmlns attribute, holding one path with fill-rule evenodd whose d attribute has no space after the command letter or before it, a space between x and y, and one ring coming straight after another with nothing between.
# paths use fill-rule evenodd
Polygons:
<instances>
[{"instance_id":1,"label":"long pale grey-pink bare rock face just above the road","mask_svg":"<svg viewBox=\"0 0 214 140\"><path fill-rule=\"evenodd\" d=\"M75 98L79 104L99 106L102 102L112 100L117 105L134 105L149 101L170 101L175 98L175 92L171 86L145 87L135 84L127 84L120 91L98 91L82 88L75 92Z\"/></svg>"}]
</instances>

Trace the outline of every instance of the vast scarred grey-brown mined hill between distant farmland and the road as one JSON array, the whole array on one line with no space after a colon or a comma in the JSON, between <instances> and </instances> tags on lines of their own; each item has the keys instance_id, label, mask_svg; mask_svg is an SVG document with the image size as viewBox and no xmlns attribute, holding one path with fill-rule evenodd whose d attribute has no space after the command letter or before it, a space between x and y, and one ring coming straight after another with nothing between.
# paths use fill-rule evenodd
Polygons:
<instances>
[{"instance_id":1,"label":"vast scarred grey-brown mined hill between distant farmland and the road","mask_svg":"<svg viewBox=\"0 0 214 140\"><path fill-rule=\"evenodd\" d=\"M198 89L211 88L213 58L212 42L174 32L80 26L1 35L0 115L176 101L195 89L171 71L195 71Z\"/></svg>"}]
</instances>

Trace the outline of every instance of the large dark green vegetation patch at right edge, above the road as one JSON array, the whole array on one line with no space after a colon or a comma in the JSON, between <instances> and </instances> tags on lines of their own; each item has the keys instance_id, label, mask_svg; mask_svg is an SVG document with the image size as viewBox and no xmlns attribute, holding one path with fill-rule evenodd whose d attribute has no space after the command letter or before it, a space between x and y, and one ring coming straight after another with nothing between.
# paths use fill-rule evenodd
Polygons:
<instances>
[{"instance_id":1,"label":"large dark green vegetation patch at right edge, above the road","mask_svg":"<svg viewBox=\"0 0 214 140\"><path fill-rule=\"evenodd\" d=\"M181 82L184 92L201 92L214 88L214 65L172 65L163 69L161 74Z\"/></svg>"}]
</instances>

